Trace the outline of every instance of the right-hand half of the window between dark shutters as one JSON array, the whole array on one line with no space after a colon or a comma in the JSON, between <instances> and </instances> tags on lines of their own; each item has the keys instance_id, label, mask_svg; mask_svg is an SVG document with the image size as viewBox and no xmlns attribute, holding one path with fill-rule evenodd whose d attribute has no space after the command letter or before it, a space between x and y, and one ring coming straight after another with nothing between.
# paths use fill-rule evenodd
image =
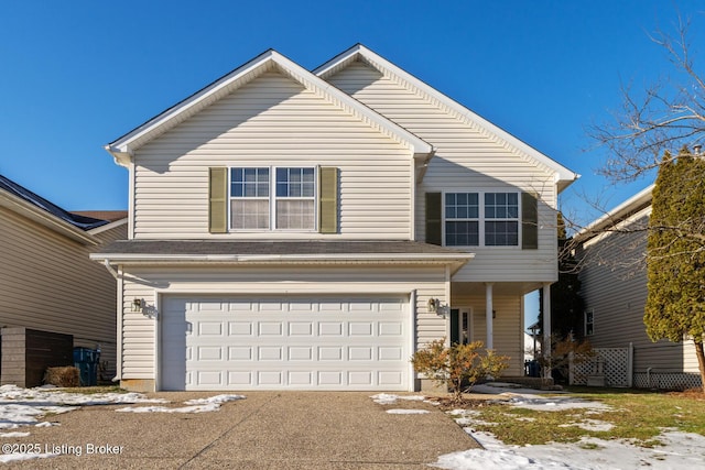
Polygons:
<instances>
[{"instance_id":1,"label":"right-hand half of the window between dark shutters","mask_svg":"<svg viewBox=\"0 0 705 470\"><path fill-rule=\"evenodd\" d=\"M519 244L519 195L517 193L485 194L485 245L517 247Z\"/></svg>"}]
</instances>

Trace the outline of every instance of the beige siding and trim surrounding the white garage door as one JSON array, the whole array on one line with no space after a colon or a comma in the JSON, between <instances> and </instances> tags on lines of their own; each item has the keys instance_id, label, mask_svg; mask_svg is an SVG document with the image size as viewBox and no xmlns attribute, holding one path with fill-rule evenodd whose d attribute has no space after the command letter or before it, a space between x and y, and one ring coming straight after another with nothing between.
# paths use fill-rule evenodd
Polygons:
<instances>
[{"instance_id":1,"label":"beige siding and trim surrounding the white garage door","mask_svg":"<svg viewBox=\"0 0 705 470\"><path fill-rule=\"evenodd\" d=\"M154 379L159 334L154 309L160 294L180 295L410 295L416 292L416 345L446 336L445 319L426 311L429 298L444 303L444 267L424 266L239 266L130 267L124 272L122 318L122 379ZM144 299L144 313L132 311L132 300ZM413 309L412 309L413 310ZM413 311L410 315L414 315Z\"/></svg>"}]
</instances>

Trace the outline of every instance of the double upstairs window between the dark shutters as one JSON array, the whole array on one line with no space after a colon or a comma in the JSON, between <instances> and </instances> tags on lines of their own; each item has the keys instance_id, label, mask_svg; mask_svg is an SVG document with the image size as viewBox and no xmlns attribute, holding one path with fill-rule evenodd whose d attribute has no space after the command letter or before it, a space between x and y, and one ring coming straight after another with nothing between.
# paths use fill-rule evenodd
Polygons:
<instances>
[{"instance_id":1,"label":"double upstairs window between the dark shutters","mask_svg":"<svg viewBox=\"0 0 705 470\"><path fill-rule=\"evenodd\" d=\"M518 193L446 193L444 209L446 247L519 245Z\"/></svg>"}]
</instances>

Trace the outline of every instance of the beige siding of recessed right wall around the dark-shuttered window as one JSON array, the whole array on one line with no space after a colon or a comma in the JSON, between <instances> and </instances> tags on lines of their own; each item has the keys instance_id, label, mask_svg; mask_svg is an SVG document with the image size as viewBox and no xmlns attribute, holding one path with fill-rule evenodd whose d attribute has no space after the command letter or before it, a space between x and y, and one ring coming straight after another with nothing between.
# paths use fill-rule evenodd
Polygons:
<instances>
[{"instance_id":1,"label":"beige siding of recessed right wall around the dark-shuttered window","mask_svg":"<svg viewBox=\"0 0 705 470\"><path fill-rule=\"evenodd\" d=\"M415 195L415 233L425 239L426 192L529 192L539 201L539 249L470 248L475 260L454 281L544 281L557 278L556 193L547 167L498 141L466 118L356 62L328 79L370 108L431 143L436 153ZM520 237L521 240L521 237Z\"/></svg>"}]
</instances>

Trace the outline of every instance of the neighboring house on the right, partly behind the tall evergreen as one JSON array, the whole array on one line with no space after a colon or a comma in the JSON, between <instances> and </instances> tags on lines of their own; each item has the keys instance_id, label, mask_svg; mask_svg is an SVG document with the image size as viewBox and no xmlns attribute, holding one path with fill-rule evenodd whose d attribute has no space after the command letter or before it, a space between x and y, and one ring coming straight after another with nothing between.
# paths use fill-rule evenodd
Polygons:
<instances>
[{"instance_id":1,"label":"neighboring house on the right, partly behind the tall evergreen","mask_svg":"<svg viewBox=\"0 0 705 470\"><path fill-rule=\"evenodd\" d=\"M652 188L641 190L576 236L576 254L583 265L579 280L585 334L594 348L632 348L633 363L621 368L632 373L627 383L638 387L695 387L699 386L699 373L693 341L652 342L643 324L646 228Z\"/></svg>"}]
</instances>

